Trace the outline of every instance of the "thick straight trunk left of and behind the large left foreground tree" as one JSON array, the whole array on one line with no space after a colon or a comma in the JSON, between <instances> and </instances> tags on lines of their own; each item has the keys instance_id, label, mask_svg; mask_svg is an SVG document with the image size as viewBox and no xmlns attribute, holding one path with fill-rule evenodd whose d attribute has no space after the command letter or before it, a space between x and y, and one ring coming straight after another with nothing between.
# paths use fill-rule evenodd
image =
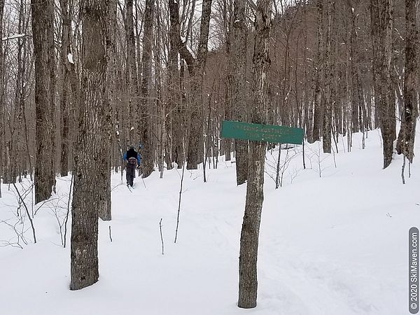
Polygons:
<instances>
[{"instance_id":1,"label":"thick straight trunk left of and behind the large left foreground tree","mask_svg":"<svg viewBox=\"0 0 420 315\"><path fill-rule=\"evenodd\" d=\"M55 186L54 156L54 1L31 0L35 55L36 162L35 203L47 200Z\"/></svg>"}]
</instances>

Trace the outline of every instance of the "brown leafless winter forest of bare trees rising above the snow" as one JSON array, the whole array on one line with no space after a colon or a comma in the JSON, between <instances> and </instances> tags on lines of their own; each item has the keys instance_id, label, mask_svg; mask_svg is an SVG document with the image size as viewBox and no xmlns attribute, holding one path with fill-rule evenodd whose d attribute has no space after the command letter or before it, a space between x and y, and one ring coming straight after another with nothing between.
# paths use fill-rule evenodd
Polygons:
<instances>
[{"instance_id":1,"label":"brown leafless winter forest of bare trees rising above the snow","mask_svg":"<svg viewBox=\"0 0 420 315\"><path fill-rule=\"evenodd\" d=\"M253 230L241 248L258 248L265 154L279 144L222 138L222 122L302 128L302 150L321 141L323 153L380 130L377 164L402 154L404 174L419 18L419 0L0 0L1 182L30 179L38 204L71 174L71 290L99 276L97 222L111 220L128 146L142 179L201 168L205 182L235 160ZM240 307L255 307L254 280L239 281L255 287Z\"/></svg>"}]
</instances>

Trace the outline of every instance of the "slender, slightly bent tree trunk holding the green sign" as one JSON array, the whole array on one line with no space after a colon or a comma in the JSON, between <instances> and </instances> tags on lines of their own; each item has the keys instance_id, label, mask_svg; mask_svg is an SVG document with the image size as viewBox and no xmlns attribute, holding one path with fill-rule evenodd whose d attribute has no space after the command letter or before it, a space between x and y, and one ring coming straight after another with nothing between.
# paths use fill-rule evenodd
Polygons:
<instances>
[{"instance_id":1,"label":"slender, slightly bent tree trunk holding the green sign","mask_svg":"<svg viewBox=\"0 0 420 315\"><path fill-rule=\"evenodd\" d=\"M269 31L271 27L272 0L258 0L255 18L255 43L253 55L253 94L251 123L265 124L269 83ZM262 201L264 200L265 148L262 141L250 141L248 183L244 223L239 249L239 300L238 307L252 308L257 304L258 237Z\"/></svg>"}]
</instances>

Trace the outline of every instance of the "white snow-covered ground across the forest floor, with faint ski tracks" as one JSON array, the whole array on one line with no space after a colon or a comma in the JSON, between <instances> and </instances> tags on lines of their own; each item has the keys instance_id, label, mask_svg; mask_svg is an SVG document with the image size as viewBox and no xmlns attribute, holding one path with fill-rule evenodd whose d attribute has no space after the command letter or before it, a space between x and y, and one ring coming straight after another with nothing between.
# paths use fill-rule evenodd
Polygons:
<instances>
[{"instance_id":1,"label":"white snow-covered ground across the forest floor, with faint ski tracks","mask_svg":"<svg viewBox=\"0 0 420 315\"><path fill-rule=\"evenodd\" d=\"M419 158L402 185L401 156L381 169L378 131L369 132L365 150L360 134L351 153L346 139L337 146L338 153L326 155L322 144L307 144L307 169L302 147L289 149L293 158L277 190L278 151L267 153L258 306L250 310L236 305L246 187L236 186L235 164L219 159L217 169L207 169L207 183L202 169L185 172L176 244L181 171L137 178L133 192L113 174L113 220L99 222L99 282L79 291L69 290L70 231L63 248L59 228L70 177L58 178L57 194L42 205L31 206L28 191L36 244L14 188L3 185L0 244L19 242L22 249L0 247L0 314L408 314L408 230L420 226ZM285 159L282 150L281 165ZM18 185L21 193L24 186L29 180ZM25 239L18 240L22 230Z\"/></svg>"}]
</instances>

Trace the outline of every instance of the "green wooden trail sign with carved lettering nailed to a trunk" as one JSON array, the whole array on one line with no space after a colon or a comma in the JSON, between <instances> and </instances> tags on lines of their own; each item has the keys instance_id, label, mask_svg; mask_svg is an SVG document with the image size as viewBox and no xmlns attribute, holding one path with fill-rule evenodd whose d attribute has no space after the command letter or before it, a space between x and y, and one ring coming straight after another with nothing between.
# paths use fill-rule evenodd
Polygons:
<instances>
[{"instance_id":1,"label":"green wooden trail sign with carved lettering nailed to a trunk","mask_svg":"<svg viewBox=\"0 0 420 315\"><path fill-rule=\"evenodd\" d=\"M302 144L303 129L223 120L221 137L281 144Z\"/></svg>"}]
</instances>

